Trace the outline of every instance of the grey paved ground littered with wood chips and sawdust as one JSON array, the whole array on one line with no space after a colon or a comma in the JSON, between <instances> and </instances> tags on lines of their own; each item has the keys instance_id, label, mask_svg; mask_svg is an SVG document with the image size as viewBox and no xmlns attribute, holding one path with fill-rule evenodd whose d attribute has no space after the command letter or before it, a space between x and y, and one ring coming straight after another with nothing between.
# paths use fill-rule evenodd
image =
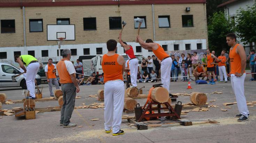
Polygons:
<instances>
[{"instance_id":1,"label":"grey paved ground littered with wood chips and sawdust","mask_svg":"<svg viewBox=\"0 0 256 143\"><path fill-rule=\"evenodd\" d=\"M248 75L245 82L245 93L247 101L256 101L256 81L249 81ZM153 83L139 83L138 86L145 86L143 93L146 94ZM43 97L49 96L47 84L42 84ZM98 102L95 98L88 97L94 95L98 89L102 89L103 85L81 86L78 96L82 98L76 100L76 106L85 103L85 105ZM234 116L238 113L236 104L230 105L228 111L221 111L224 108L224 102L234 102L235 97L231 88L231 83L217 83L216 85L195 85L192 82L193 89L186 89L187 82L171 82L171 93L190 93L191 91L200 91L211 93L214 91L223 92L222 94L209 94L209 100L216 100L210 103L218 105L219 108L210 108L206 112L190 111L187 115L182 115L184 119L190 120L218 120L219 124L209 124L203 122L193 122L193 126L181 126L179 124L162 125L161 127L148 127L148 130L138 131L134 126L127 126L127 120L123 120L122 129L124 135L112 136L104 133L103 108L98 109L79 109L74 110L71 122L77 123L78 126L73 128L63 128L59 126L60 112L49 112L36 114L36 119L25 120L23 117L15 118L14 116L3 116L0 119L0 143L227 143L227 142L256 142L256 106L250 107L251 116L247 122L237 122L238 118ZM0 89L6 93L8 99L23 99L22 90L19 88ZM183 103L189 102L189 96L179 96L179 101ZM146 99L138 99L138 102L145 104ZM23 104L3 105L3 109L11 109L12 107L21 107ZM174 105L174 103L173 103ZM57 101L37 102L36 107L58 106ZM124 114L123 114L124 115ZM134 115L134 114L130 114ZM99 118L98 121L90 121L90 119Z\"/></svg>"}]
</instances>

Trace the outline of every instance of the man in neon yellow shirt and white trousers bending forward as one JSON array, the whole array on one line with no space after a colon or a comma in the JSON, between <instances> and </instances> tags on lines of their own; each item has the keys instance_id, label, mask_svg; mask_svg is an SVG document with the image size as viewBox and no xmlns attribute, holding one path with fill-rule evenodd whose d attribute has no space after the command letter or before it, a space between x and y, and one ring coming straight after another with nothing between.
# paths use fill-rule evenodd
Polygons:
<instances>
[{"instance_id":1,"label":"man in neon yellow shirt and white trousers bending forward","mask_svg":"<svg viewBox=\"0 0 256 143\"><path fill-rule=\"evenodd\" d=\"M19 63L21 69L26 73L26 85L30 91L29 99L35 99L35 78L40 66L37 59L31 55L15 55L14 61Z\"/></svg>"}]
</instances>

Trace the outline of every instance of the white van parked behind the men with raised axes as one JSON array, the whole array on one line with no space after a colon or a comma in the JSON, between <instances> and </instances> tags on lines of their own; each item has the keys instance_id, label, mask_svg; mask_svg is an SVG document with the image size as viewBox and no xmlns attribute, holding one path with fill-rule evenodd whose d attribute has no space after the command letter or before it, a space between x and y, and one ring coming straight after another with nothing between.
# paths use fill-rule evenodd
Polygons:
<instances>
[{"instance_id":1,"label":"white van parked behind the men with raised axes","mask_svg":"<svg viewBox=\"0 0 256 143\"><path fill-rule=\"evenodd\" d=\"M124 57L124 61L128 60L128 57L126 54L119 54L122 55ZM103 70L102 70L102 66L101 66L101 57L103 55L100 56L95 56L92 58L92 67L93 67L93 71L95 71L95 73L97 75L102 74ZM140 71L141 71L141 63L142 63L142 58L145 58L144 56L140 55L140 54L135 54L135 56L137 57L138 61L139 61L139 67L140 67ZM146 59L146 58L145 58Z\"/></svg>"}]
</instances>

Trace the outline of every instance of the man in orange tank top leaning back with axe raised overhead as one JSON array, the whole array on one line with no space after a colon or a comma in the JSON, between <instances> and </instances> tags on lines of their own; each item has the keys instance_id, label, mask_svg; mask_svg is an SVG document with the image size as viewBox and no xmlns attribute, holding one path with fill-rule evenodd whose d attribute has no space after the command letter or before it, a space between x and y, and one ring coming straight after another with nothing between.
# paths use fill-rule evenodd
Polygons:
<instances>
[{"instance_id":1,"label":"man in orange tank top leaning back with axe raised overhead","mask_svg":"<svg viewBox=\"0 0 256 143\"><path fill-rule=\"evenodd\" d=\"M169 92L172 58L164 52L163 47L161 47L157 43L154 43L152 39L147 39L146 42L144 42L140 38L140 36L137 36L136 41L141 45L141 47L145 48L146 50L152 50L153 53L156 55L157 59L161 61L161 82L163 84L163 87L166 88Z\"/></svg>"}]
</instances>

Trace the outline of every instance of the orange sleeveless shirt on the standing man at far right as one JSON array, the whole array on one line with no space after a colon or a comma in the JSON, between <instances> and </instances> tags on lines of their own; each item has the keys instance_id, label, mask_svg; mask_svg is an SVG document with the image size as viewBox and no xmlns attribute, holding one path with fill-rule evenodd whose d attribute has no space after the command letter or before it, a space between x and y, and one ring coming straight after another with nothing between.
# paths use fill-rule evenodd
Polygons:
<instances>
[{"instance_id":1,"label":"orange sleeveless shirt on the standing man at far right","mask_svg":"<svg viewBox=\"0 0 256 143\"><path fill-rule=\"evenodd\" d=\"M241 64L241 58L240 55L238 53L236 53L236 48L239 44L236 44L233 47L233 50L231 50L230 48L230 52L229 52L229 57L230 57L230 67L231 67L231 71L230 74L235 74L240 73L241 69L242 69L242 64ZM245 71L243 71L243 73L245 73Z\"/></svg>"}]
</instances>

